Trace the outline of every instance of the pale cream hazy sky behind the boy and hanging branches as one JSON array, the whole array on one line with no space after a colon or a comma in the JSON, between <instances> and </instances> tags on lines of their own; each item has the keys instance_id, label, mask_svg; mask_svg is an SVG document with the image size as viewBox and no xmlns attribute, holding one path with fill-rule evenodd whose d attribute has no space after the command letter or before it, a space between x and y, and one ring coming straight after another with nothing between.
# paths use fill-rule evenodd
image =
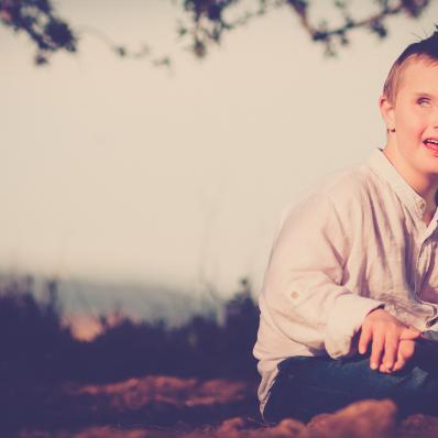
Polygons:
<instances>
[{"instance_id":1,"label":"pale cream hazy sky behind the boy and hanging branches","mask_svg":"<svg viewBox=\"0 0 438 438\"><path fill-rule=\"evenodd\" d=\"M54 4L80 30L76 55L35 67L0 28L0 270L225 297L243 276L260 292L285 205L384 145L385 76L438 12L390 19L384 41L354 31L327 58L283 8L199 61L171 1ZM102 34L172 69L114 56Z\"/></svg>"}]
</instances>

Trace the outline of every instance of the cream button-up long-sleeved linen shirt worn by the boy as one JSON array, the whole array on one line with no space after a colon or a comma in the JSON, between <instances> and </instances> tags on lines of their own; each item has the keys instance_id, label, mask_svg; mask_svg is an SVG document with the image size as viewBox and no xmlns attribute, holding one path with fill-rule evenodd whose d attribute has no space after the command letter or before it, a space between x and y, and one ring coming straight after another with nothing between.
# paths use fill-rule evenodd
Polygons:
<instances>
[{"instance_id":1,"label":"cream button-up long-sleeved linen shirt worn by the boy","mask_svg":"<svg viewBox=\"0 0 438 438\"><path fill-rule=\"evenodd\" d=\"M438 209L428 226L424 212L425 200L380 149L284 211L259 300L262 412L281 361L351 354L352 337L379 306L438 335Z\"/></svg>"}]
</instances>

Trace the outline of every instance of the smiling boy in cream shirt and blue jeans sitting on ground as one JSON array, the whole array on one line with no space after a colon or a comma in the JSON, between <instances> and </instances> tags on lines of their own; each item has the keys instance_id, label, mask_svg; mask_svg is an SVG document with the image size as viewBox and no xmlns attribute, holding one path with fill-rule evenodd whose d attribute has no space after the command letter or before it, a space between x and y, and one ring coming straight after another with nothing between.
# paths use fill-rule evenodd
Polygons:
<instances>
[{"instance_id":1,"label":"smiling boy in cream shirt and blue jeans sitting on ground","mask_svg":"<svg viewBox=\"0 0 438 438\"><path fill-rule=\"evenodd\" d=\"M281 219L254 347L267 421L361 398L438 415L438 31L402 53L379 103L384 150Z\"/></svg>"}]
</instances>

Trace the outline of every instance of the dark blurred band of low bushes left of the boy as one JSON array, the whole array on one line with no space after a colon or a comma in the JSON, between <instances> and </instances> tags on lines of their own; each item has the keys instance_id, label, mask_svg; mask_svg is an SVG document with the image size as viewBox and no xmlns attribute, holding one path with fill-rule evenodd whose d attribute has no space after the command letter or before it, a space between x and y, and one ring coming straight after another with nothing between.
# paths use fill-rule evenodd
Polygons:
<instances>
[{"instance_id":1,"label":"dark blurred band of low bushes left of the boy","mask_svg":"<svg viewBox=\"0 0 438 438\"><path fill-rule=\"evenodd\" d=\"M196 315L185 325L133 322L120 318L84 342L62 322L55 282L36 300L32 282L14 282L0 293L0 369L22 381L112 382L145 374L253 379L252 348L259 310L247 281L225 305L225 320ZM32 364L32 365L30 365Z\"/></svg>"}]
</instances>

